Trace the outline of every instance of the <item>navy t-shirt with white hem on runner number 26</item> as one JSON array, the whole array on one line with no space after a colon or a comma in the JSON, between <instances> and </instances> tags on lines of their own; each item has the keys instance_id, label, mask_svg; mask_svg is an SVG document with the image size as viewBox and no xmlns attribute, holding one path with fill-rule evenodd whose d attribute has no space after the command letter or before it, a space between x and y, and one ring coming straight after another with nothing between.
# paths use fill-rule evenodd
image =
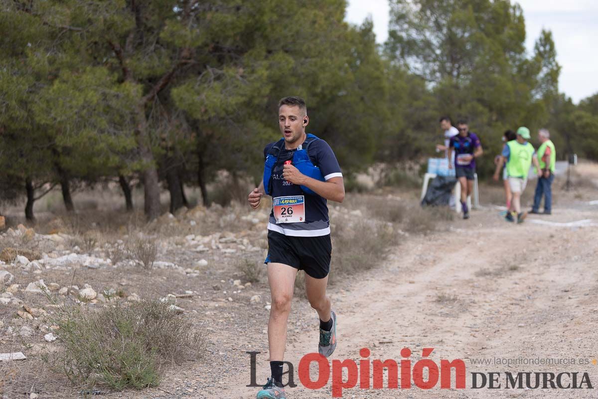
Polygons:
<instances>
[{"instance_id":1,"label":"navy t-shirt with white hem on runner number 26","mask_svg":"<svg viewBox=\"0 0 598 399\"><path fill-rule=\"evenodd\" d=\"M276 142L270 143L264 148L264 160L268 155L272 146ZM297 150L286 150L284 144L280 150L278 162L273 167L272 173L272 198L288 197L288 196L304 196L305 218L301 223L276 223L274 218L274 211L270 212L270 223L268 229L274 232L279 232L287 236L297 237L318 237L330 234L330 223L328 219L327 200L317 194L305 194L301 190L300 185L292 184L285 181L282 177L283 165L286 160L292 160L293 154ZM332 148L322 139L315 140L310 143L307 150L309 158L313 165L318 166L324 175L324 179L328 180L333 177L342 177L338 161L332 152Z\"/></svg>"}]
</instances>

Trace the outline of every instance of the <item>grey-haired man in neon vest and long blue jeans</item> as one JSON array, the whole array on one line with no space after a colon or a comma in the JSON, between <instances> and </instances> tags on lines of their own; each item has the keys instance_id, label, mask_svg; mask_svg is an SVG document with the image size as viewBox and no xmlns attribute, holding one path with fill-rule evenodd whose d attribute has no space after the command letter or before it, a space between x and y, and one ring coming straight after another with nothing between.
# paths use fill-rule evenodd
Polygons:
<instances>
[{"instance_id":1,"label":"grey-haired man in neon vest and long blue jeans","mask_svg":"<svg viewBox=\"0 0 598 399\"><path fill-rule=\"evenodd\" d=\"M538 138L540 139L540 147L538 148L538 162L542 174L538 176L538 183L536 184L536 193L533 197L533 207L530 214L540 213L540 202L542 201L542 194L544 194L544 215L552 213L553 204L553 180L554 180L554 166L557 161L557 151L554 149L554 144L550 140L550 132L547 129L540 129L538 131Z\"/></svg>"}]
</instances>

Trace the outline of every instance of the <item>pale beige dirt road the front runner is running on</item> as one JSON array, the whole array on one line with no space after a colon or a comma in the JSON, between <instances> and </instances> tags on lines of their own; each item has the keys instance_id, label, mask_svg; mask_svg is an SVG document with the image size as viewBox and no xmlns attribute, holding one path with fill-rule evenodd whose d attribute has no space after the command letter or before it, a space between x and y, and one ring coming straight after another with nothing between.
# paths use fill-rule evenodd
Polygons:
<instances>
[{"instance_id":1,"label":"pale beige dirt road the front runner is running on","mask_svg":"<svg viewBox=\"0 0 598 399\"><path fill-rule=\"evenodd\" d=\"M505 389L506 371L579 372L577 385L587 372L591 385L598 385L596 205L573 196L559 204L552 216L532 215L522 225L505 223L490 207L473 211L470 220L450 222L446 231L408 237L379 267L335 284L330 294L338 347L332 359L359 362L359 350L368 348L370 360L399 362L401 349L410 348L413 366L423 348L434 348L429 358L435 363L462 359L466 365L465 389L454 389L454 378L453 389L440 389L440 382L431 391L386 389L385 374L385 389L344 389L343 397L597 397L594 389ZM571 224L582 220L581 227ZM247 312L249 321L243 322L234 314L222 316L205 361L170 372L161 390L135 397L254 398L258 388L246 387L251 375L245 352L261 352L257 381L263 383L269 375L268 312ZM294 365L298 386L287 389L289 398L332 397L331 379L314 391L297 376L301 357L316 352L317 342L315 311L295 299L285 360ZM501 364L530 358L552 364ZM582 364L570 364L572 358ZM493 364L475 364L480 361ZM489 371L501 373L501 388L472 389L471 373ZM563 377L563 385L571 378Z\"/></svg>"}]
</instances>

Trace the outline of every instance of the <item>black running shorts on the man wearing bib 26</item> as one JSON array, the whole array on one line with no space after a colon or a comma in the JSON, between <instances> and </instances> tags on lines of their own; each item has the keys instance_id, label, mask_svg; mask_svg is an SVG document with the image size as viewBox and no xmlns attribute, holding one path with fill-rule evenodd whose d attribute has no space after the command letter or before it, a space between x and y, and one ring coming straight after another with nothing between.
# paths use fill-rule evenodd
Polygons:
<instances>
[{"instance_id":1,"label":"black running shorts on the man wearing bib 26","mask_svg":"<svg viewBox=\"0 0 598 399\"><path fill-rule=\"evenodd\" d=\"M330 272L332 242L330 234L318 237L285 236L268 230L268 257L264 263L282 263L305 270L310 277L321 279Z\"/></svg>"}]
</instances>

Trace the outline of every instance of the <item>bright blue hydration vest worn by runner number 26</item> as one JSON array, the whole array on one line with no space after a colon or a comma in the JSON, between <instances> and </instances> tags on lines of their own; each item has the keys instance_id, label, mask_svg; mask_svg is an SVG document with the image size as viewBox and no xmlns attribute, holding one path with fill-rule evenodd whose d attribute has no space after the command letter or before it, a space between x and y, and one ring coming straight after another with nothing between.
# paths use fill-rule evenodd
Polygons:
<instances>
[{"instance_id":1,"label":"bright blue hydration vest worn by runner number 26","mask_svg":"<svg viewBox=\"0 0 598 399\"><path fill-rule=\"evenodd\" d=\"M309 154L307 153L307 148L309 145L312 144L314 141L319 140L316 136L312 134L307 135L306 141L301 144L301 150L295 151L293 154L293 162L292 165L295 166L299 172L303 173L304 175L319 180L325 181L324 175L318 166L313 165L312 160L309 159ZM276 142L268 151L266 156L266 162L264 162L264 191L269 196L272 195L272 173L274 171L274 165L278 162L278 157L280 156L280 150L282 150L283 145L285 145L285 139L282 138ZM301 190L305 194L312 194L318 195L314 191L310 190L309 188L301 185Z\"/></svg>"}]
</instances>

